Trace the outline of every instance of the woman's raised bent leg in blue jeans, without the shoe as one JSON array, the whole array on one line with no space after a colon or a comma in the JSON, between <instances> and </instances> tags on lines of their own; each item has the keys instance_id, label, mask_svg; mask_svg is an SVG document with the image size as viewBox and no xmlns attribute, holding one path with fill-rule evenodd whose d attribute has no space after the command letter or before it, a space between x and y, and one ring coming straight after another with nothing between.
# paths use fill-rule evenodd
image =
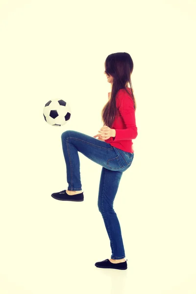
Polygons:
<instances>
[{"instance_id":1,"label":"woman's raised bent leg in blue jeans, without the shoe","mask_svg":"<svg viewBox=\"0 0 196 294\"><path fill-rule=\"evenodd\" d=\"M67 167L67 182L69 191L81 191L80 161L78 151L111 171L124 171L125 161L110 144L86 134L68 130L62 133L62 148Z\"/></svg>"}]
</instances>

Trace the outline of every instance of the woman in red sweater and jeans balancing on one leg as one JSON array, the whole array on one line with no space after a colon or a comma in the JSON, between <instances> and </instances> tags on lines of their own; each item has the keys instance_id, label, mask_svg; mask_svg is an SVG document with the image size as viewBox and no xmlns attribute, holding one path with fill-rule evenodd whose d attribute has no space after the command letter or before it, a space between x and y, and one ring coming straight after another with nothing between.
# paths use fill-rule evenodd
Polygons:
<instances>
[{"instance_id":1,"label":"woman in red sweater and jeans balancing on one leg","mask_svg":"<svg viewBox=\"0 0 196 294\"><path fill-rule=\"evenodd\" d=\"M137 137L136 102L131 85L133 61L128 53L110 54L105 60L105 74L112 91L102 109L103 126L94 137L68 130L62 133L62 147L67 167L68 190L53 193L57 200L83 201L78 151L102 166L98 209L103 217L112 249L111 259L95 264L98 268L126 270L121 227L113 202L123 172L132 163L132 139ZM131 88L127 85L130 84ZM98 139L96 139L98 138Z\"/></svg>"}]
</instances>

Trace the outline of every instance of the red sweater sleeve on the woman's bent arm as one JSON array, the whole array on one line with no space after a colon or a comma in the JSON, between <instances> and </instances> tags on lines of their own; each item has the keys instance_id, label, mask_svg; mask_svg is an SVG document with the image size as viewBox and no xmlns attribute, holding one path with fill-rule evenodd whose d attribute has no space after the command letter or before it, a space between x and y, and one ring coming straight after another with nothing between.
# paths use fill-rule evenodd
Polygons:
<instances>
[{"instance_id":1,"label":"red sweater sleeve on the woman's bent arm","mask_svg":"<svg viewBox=\"0 0 196 294\"><path fill-rule=\"evenodd\" d=\"M138 135L136 121L135 121L135 109L133 99L126 93L124 89L119 90L117 93L117 108L120 115L123 118L123 122L126 126L124 129L115 129L116 136L113 141L132 140Z\"/></svg>"}]
</instances>

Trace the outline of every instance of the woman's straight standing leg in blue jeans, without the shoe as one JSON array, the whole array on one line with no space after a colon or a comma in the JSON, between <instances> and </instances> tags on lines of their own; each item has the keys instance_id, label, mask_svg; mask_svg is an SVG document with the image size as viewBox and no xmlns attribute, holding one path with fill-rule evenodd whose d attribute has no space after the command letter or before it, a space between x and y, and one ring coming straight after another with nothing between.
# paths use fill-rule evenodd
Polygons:
<instances>
[{"instance_id":1,"label":"woman's straight standing leg in blue jeans, without the shoe","mask_svg":"<svg viewBox=\"0 0 196 294\"><path fill-rule=\"evenodd\" d=\"M98 210L102 215L110 239L111 259L123 259L125 257L121 226L113 209L122 175L123 172L102 168L99 183Z\"/></svg>"}]
</instances>

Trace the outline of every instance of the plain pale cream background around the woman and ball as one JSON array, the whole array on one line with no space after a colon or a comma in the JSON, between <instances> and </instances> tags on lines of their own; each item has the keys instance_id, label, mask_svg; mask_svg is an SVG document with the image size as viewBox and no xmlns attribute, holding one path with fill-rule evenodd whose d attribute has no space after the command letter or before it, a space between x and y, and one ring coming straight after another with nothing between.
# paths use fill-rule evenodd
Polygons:
<instances>
[{"instance_id":1,"label":"plain pale cream background around the woman and ball","mask_svg":"<svg viewBox=\"0 0 196 294\"><path fill-rule=\"evenodd\" d=\"M196 293L195 30L194 0L0 1L0 293ZM127 270L95 267L111 258L99 165L79 153L83 202L50 196L68 188L61 134L102 126L114 52L137 102L114 202ZM64 126L44 120L52 98L72 108Z\"/></svg>"}]
</instances>

